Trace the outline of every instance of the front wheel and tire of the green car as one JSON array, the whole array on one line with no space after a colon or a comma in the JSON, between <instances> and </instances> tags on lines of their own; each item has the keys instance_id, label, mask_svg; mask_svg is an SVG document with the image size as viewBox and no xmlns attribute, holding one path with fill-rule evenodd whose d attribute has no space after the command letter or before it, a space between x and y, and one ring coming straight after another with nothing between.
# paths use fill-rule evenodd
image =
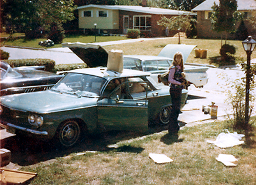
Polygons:
<instances>
[{"instance_id":1,"label":"front wheel and tire of the green car","mask_svg":"<svg viewBox=\"0 0 256 185\"><path fill-rule=\"evenodd\" d=\"M80 138L81 129L77 121L69 120L62 123L56 132L56 139L63 147L71 147Z\"/></svg>"}]
</instances>

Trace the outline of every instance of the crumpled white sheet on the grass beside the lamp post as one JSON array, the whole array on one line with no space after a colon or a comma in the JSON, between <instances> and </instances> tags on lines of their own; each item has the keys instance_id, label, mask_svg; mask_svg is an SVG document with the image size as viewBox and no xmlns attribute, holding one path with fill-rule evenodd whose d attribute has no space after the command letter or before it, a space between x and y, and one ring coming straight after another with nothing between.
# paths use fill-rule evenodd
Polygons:
<instances>
[{"instance_id":1,"label":"crumpled white sheet on the grass beside the lamp post","mask_svg":"<svg viewBox=\"0 0 256 185\"><path fill-rule=\"evenodd\" d=\"M228 131L227 131L228 132ZM215 144L221 148L233 147L239 144L243 144L244 141L240 141L244 137L244 134L237 133L220 133L216 138L216 141L207 140L206 142Z\"/></svg>"}]
</instances>

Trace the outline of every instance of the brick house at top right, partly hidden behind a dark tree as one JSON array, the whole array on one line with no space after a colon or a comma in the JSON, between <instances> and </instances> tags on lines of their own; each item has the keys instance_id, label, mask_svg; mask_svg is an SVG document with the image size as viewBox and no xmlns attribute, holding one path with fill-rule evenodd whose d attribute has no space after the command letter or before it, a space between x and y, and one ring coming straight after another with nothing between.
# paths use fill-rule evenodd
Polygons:
<instances>
[{"instance_id":1,"label":"brick house at top right, partly hidden behind a dark tree","mask_svg":"<svg viewBox=\"0 0 256 185\"><path fill-rule=\"evenodd\" d=\"M211 30L211 7L214 2L219 5L219 0L206 0L192 9L197 13L197 33L199 38L221 38L220 33ZM244 12L245 19L256 16L256 1L255 0L237 0L237 10ZM239 23L237 24L237 27ZM245 21L249 35L256 36L255 30L250 27ZM234 38L234 35L229 35L229 38Z\"/></svg>"}]
</instances>

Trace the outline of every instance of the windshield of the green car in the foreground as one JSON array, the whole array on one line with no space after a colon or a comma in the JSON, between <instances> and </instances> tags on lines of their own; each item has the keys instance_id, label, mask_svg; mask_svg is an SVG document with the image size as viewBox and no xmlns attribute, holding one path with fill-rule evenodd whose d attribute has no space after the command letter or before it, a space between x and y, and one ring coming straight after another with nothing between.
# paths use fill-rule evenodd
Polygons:
<instances>
[{"instance_id":1,"label":"windshield of the green car in the foreground","mask_svg":"<svg viewBox=\"0 0 256 185\"><path fill-rule=\"evenodd\" d=\"M53 88L76 96L99 97L102 86L106 80L99 76L68 73Z\"/></svg>"}]
</instances>

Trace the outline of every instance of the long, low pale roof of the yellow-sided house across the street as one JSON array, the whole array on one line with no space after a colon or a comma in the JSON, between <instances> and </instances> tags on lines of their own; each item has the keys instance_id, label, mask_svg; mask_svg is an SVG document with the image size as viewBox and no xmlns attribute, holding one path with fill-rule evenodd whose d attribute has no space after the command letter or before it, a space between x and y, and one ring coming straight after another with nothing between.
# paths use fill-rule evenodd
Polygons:
<instances>
[{"instance_id":1,"label":"long, low pale roof of the yellow-sided house across the street","mask_svg":"<svg viewBox=\"0 0 256 185\"><path fill-rule=\"evenodd\" d=\"M157 14L157 15L182 15L182 14L190 14L196 15L193 12L186 12L180 10L171 10L171 9L160 9L156 7L142 7L142 6L120 6L120 5L95 5L90 4L87 6L79 6L77 9L85 9L89 7L95 7L100 9L110 9L110 10L126 10L130 12L140 12L145 14Z\"/></svg>"}]
</instances>

